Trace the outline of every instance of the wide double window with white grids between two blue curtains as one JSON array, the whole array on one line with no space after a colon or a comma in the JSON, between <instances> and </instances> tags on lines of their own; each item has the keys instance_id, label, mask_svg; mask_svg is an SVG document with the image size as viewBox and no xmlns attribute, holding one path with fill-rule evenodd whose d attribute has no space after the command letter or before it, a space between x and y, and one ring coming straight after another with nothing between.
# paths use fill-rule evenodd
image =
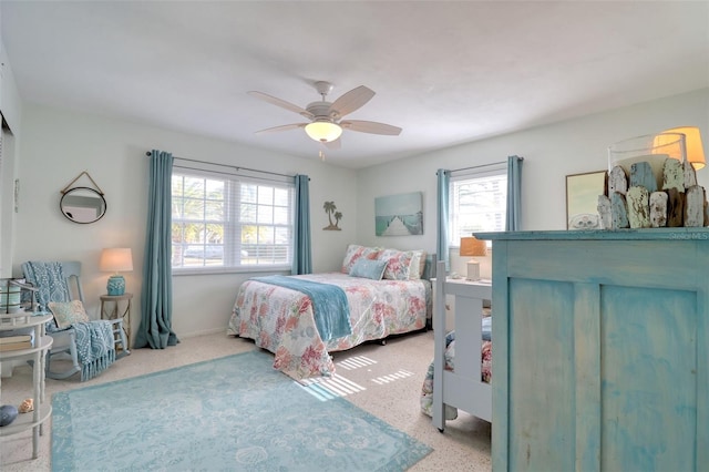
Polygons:
<instances>
[{"instance_id":1,"label":"wide double window with white grids between two blue curtains","mask_svg":"<svg viewBox=\"0 0 709 472\"><path fill-rule=\"evenodd\" d=\"M175 166L172 198L176 273L290 268L292 183Z\"/></svg>"}]
</instances>

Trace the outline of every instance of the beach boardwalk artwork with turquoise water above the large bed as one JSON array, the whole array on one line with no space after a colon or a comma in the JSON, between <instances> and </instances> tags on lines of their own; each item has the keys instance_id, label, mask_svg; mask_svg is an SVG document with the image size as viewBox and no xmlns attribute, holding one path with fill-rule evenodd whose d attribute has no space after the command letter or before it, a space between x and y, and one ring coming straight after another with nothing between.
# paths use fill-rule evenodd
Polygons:
<instances>
[{"instance_id":1,"label":"beach boardwalk artwork with turquoise water above the large bed","mask_svg":"<svg viewBox=\"0 0 709 472\"><path fill-rule=\"evenodd\" d=\"M423 193L374 198L374 233L377 236L422 235Z\"/></svg>"}]
</instances>

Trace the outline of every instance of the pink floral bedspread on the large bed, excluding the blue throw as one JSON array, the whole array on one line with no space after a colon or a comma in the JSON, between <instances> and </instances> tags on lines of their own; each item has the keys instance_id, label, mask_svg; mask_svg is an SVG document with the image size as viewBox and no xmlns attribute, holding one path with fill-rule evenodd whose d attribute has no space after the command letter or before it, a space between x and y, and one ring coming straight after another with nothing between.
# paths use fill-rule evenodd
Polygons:
<instances>
[{"instance_id":1,"label":"pink floral bedspread on the large bed, excluding the blue throw","mask_svg":"<svg viewBox=\"0 0 709 472\"><path fill-rule=\"evenodd\" d=\"M341 273L294 277L342 288L350 306L352 334L322 341L308 296L256 280L246 280L239 287L227 334L254 339L256 346L275 355L274 368L296 378L331 374L331 351L425 327L431 290L428 280L371 280Z\"/></svg>"}]
</instances>

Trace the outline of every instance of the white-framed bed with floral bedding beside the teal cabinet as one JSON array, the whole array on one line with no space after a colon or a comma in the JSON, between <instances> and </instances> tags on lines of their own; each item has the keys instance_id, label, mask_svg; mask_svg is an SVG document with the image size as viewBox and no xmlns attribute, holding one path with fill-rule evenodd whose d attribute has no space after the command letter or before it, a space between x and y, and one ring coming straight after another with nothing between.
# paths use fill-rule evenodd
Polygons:
<instances>
[{"instance_id":1,"label":"white-framed bed with floral bedding beside the teal cabinet","mask_svg":"<svg viewBox=\"0 0 709 472\"><path fill-rule=\"evenodd\" d=\"M445 264L436 270L445 274ZM421 388L421 410L443 431L458 409L492 421L492 317L484 300L492 298L492 285L439 277L434 355ZM455 330L445 332L445 295L455 296ZM442 372L442 374L438 374Z\"/></svg>"}]
</instances>

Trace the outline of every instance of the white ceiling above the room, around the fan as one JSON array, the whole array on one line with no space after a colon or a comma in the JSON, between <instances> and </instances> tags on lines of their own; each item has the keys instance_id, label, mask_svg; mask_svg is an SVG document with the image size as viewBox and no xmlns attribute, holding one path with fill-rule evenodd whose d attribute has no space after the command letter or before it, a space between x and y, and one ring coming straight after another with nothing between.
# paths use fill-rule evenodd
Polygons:
<instances>
[{"instance_id":1,"label":"white ceiling above the room, around the fan","mask_svg":"<svg viewBox=\"0 0 709 472\"><path fill-rule=\"evenodd\" d=\"M331 164L352 168L709 86L709 2L8 1L30 102L318 158L299 106L367 85ZM197 157L197 156L192 156Z\"/></svg>"}]
</instances>

